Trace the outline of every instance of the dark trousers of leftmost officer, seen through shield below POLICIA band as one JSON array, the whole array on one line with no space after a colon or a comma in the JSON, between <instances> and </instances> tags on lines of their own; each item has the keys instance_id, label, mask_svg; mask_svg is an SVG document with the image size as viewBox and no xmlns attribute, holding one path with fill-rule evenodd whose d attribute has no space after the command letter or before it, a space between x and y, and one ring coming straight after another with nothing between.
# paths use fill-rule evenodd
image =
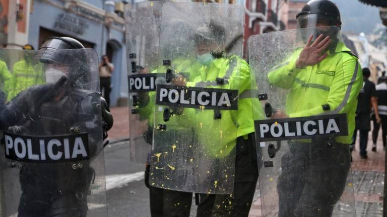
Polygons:
<instances>
[{"instance_id":1,"label":"dark trousers of leftmost officer, seen through shield below POLICIA band","mask_svg":"<svg viewBox=\"0 0 387 217\"><path fill-rule=\"evenodd\" d=\"M66 174L64 176L67 178L60 176L61 174ZM18 216L86 217L87 194L93 177L94 169L89 165L78 171L70 164L62 167L47 164L25 165L20 170L22 195Z\"/></svg>"}]
</instances>

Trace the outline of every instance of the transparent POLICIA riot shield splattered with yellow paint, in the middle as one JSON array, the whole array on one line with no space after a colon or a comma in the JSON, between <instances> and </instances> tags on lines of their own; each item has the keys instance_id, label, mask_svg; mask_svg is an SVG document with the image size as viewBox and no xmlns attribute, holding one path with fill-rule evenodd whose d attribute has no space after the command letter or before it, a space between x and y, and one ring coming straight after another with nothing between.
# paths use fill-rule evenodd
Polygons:
<instances>
[{"instance_id":1,"label":"transparent POLICIA riot shield splattered with yellow paint, in the middle","mask_svg":"<svg viewBox=\"0 0 387 217\"><path fill-rule=\"evenodd\" d=\"M163 5L150 184L198 193L233 190L242 83L243 8Z\"/></svg>"}]
</instances>

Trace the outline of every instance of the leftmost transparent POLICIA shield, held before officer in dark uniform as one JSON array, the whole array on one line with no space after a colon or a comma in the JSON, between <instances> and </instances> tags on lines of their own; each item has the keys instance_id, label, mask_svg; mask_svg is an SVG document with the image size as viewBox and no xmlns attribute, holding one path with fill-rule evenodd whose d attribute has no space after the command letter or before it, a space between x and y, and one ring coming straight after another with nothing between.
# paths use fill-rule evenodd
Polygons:
<instances>
[{"instance_id":1,"label":"leftmost transparent POLICIA shield, held before officer in dark uniform","mask_svg":"<svg viewBox=\"0 0 387 217\"><path fill-rule=\"evenodd\" d=\"M0 50L5 216L107 216L98 57Z\"/></svg>"}]
</instances>

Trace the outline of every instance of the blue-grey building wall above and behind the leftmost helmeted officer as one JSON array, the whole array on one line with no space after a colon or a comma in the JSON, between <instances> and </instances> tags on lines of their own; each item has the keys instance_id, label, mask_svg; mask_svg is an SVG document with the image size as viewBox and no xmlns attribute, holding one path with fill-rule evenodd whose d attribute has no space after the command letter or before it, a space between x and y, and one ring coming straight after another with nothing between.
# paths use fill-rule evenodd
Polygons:
<instances>
[{"instance_id":1,"label":"blue-grey building wall above and behind the leftmost helmeted officer","mask_svg":"<svg viewBox=\"0 0 387 217\"><path fill-rule=\"evenodd\" d=\"M84 2L100 9L102 9L103 6L102 1L89 0ZM112 76L113 89L110 94L111 105L116 105L116 102L119 97L127 97L125 60L126 48L124 34L122 31L118 31L115 29L110 29L110 31L108 31L102 23L77 16L73 13L69 13L66 10L57 8L42 1L34 1L33 9L34 10L30 15L28 42L35 48L38 48L39 29L41 27L95 44L94 50L97 52L99 58L101 57L101 55L105 54L106 43L112 42L111 44L113 44L114 48L112 62L115 66L115 69ZM55 28L55 21L58 17L58 14L68 14L72 17L77 17L87 22L88 28L84 29L82 35L63 29Z\"/></svg>"}]
</instances>

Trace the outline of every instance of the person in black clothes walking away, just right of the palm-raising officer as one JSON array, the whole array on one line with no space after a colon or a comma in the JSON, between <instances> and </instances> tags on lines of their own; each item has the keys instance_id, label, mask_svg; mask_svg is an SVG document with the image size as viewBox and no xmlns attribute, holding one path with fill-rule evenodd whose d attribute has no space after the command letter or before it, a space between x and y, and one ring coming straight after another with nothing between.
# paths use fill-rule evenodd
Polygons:
<instances>
[{"instance_id":1,"label":"person in black clothes walking away, just right of the palm-raising officer","mask_svg":"<svg viewBox=\"0 0 387 217\"><path fill-rule=\"evenodd\" d=\"M356 127L353 134L353 142L351 144L351 150L354 149L356 142L357 131L360 131L360 157L361 159L367 159L367 142L368 131L371 130L371 106L375 113L375 119L377 123L380 123L380 117L377 109L376 89L375 84L368 80L371 72L368 68L363 68L363 88L360 90L358 96L358 103L356 109Z\"/></svg>"}]
</instances>

